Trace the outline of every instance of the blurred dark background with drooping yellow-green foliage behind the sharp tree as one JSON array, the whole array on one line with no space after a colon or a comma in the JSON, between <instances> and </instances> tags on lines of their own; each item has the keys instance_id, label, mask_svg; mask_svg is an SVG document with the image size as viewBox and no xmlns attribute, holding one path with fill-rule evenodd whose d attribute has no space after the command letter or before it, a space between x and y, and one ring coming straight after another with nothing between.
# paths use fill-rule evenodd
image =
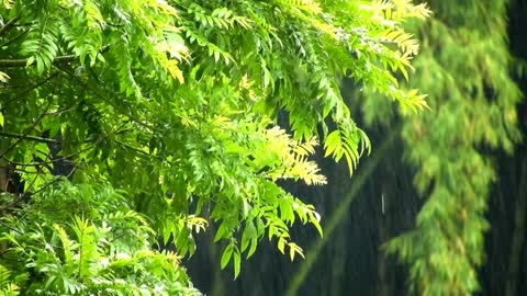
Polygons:
<instances>
[{"instance_id":1,"label":"blurred dark background with drooping yellow-green foliage behind the sharp tree","mask_svg":"<svg viewBox=\"0 0 527 296\"><path fill-rule=\"evenodd\" d=\"M265 247L239 280L209 246L188 262L209 295L520 295L527 289L527 4L427 1L407 23L422 43L408 86L430 111L397 112L351 80L341 89L374 152L350 180L318 158L328 184L307 189L324 238L294 229L306 260ZM403 81L404 78L401 77ZM321 152L321 151L319 151ZM319 155L319 153L318 153Z\"/></svg>"}]
</instances>

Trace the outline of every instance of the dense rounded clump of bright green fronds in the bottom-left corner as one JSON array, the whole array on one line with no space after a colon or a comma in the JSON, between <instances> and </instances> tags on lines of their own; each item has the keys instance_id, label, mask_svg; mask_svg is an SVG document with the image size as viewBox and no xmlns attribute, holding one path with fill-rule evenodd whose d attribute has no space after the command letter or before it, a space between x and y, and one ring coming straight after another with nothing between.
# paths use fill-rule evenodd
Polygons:
<instances>
[{"instance_id":1,"label":"dense rounded clump of bright green fronds in the bottom-left corner","mask_svg":"<svg viewBox=\"0 0 527 296\"><path fill-rule=\"evenodd\" d=\"M3 215L2 287L21 295L199 295L180 258L152 248L155 231L122 194L61 181Z\"/></svg>"}]
</instances>

